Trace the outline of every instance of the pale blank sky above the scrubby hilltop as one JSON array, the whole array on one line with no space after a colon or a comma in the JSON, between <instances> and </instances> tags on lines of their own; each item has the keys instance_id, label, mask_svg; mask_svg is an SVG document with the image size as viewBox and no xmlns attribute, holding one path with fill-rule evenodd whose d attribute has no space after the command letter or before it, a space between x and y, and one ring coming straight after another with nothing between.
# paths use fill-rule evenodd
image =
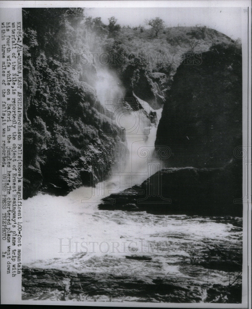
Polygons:
<instances>
[{"instance_id":1,"label":"pale blank sky above the scrubby hilltop","mask_svg":"<svg viewBox=\"0 0 252 309\"><path fill-rule=\"evenodd\" d=\"M242 8L240 7L96 7L85 8L85 14L101 17L105 24L108 24L109 17L114 16L121 26L130 27L145 25L145 19L159 17L164 20L167 27L207 26L232 39L242 37Z\"/></svg>"}]
</instances>

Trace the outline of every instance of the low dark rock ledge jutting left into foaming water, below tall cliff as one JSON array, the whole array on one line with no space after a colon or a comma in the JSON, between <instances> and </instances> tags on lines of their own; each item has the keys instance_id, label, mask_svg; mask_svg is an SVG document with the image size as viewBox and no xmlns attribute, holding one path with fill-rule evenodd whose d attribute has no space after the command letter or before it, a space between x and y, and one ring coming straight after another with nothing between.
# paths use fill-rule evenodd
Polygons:
<instances>
[{"instance_id":1,"label":"low dark rock ledge jutting left into foaming water, below tall cliff","mask_svg":"<svg viewBox=\"0 0 252 309\"><path fill-rule=\"evenodd\" d=\"M221 168L166 168L140 186L105 197L99 209L242 216L242 204L236 202L241 186L239 161Z\"/></svg>"}]
</instances>

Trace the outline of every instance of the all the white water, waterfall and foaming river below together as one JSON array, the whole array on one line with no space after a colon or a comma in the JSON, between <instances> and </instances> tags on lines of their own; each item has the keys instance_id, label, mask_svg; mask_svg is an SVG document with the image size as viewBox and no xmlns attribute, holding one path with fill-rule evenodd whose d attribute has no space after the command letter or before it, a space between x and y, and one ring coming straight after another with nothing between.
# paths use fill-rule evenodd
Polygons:
<instances>
[{"instance_id":1,"label":"all the white water, waterfall and foaming river below together","mask_svg":"<svg viewBox=\"0 0 252 309\"><path fill-rule=\"evenodd\" d=\"M108 74L97 83L97 95L104 102L106 98L121 96L122 90ZM151 110L146 102L143 104ZM159 120L161 110L156 112ZM136 121L139 126L132 131ZM149 147L152 155L157 125L150 125L141 111L125 110L119 122L126 129L130 155L123 176L112 176L106 182L105 196L140 184L150 176L146 173L146 158L141 158L138 150ZM97 192L103 185L97 185ZM199 216L98 210L104 195L92 196L92 190L78 188L65 197L39 193L23 201L23 265L134 276L143 272L187 279L196 276L202 282L228 284L223 271L211 270L209 276L208 269L199 267L200 271L192 275L180 267L180 262L192 260L196 252L216 242L239 243L242 231L234 229L232 223ZM148 256L151 263L126 256Z\"/></svg>"}]
</instances>

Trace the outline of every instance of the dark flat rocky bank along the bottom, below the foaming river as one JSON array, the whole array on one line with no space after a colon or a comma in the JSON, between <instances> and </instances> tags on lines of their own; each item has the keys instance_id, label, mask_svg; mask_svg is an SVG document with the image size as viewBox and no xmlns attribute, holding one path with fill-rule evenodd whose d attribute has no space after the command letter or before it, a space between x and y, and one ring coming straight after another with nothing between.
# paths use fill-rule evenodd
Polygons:
<instances>
[{"instance_id":1,"label":"dark flat rocky bank along the bottom, below the foaming river","mask_svg":"<svg viewBox=\"0 0 252 309\"><path fill-rule=\"evenodd\" d=\"M167 303L241 303L241 284L201 284L179 277L151 278L106 273L72 273L58 269L23 267L22 299L86 300L100 297L109 301L134 298L138 302ZM104 301L104 300L103 300Z\"/></svg>"}]
</instances>

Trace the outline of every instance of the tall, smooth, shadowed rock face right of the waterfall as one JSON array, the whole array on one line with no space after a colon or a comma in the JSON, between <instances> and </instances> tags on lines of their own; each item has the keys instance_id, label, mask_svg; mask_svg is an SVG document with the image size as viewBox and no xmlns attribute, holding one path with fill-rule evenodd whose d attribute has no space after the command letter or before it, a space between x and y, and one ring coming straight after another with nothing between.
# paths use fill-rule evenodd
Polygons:
<instances>
[{"instance_id":1,"label":"tall, smooth, shadowed rock face right of the waterfall","mask_svg":"<svg viewBox=\"0 0 252 309\"><path fill-rule=\"evenodd\" d=\"M171 167L222 167L242 145L242 56L216 45L178 67L159 122L156 146L171 148Z\"/></svg>"}]
</instances>

